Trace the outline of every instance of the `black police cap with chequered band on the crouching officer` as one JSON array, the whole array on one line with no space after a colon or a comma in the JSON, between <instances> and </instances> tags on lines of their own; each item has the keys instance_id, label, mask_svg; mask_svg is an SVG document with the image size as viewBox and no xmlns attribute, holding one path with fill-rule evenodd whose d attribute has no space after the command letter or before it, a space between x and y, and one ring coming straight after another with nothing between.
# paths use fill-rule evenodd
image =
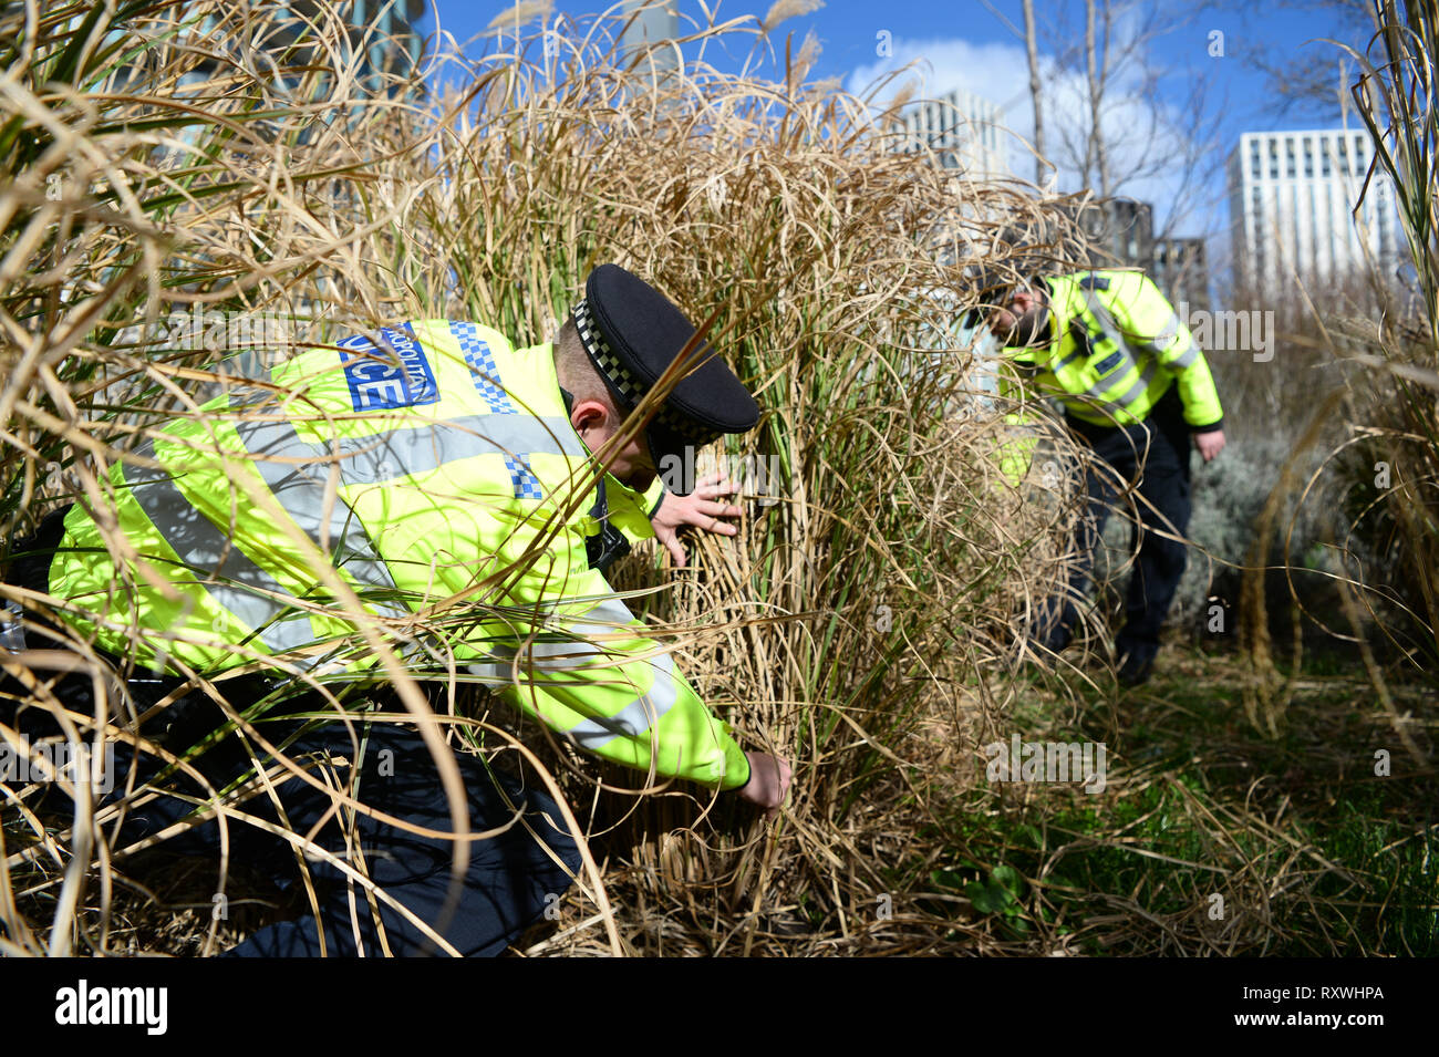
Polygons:
<instances>
[{"instance_id":1,"label":"black police cap with chequered band on the crouching officer","mask_svg":"<svg viewBox=\"0 0 1439 1057\"><path fill-rule=\"evenodd\" d=\"M669 298L619 265L590 272L573 315L580 344L625 411L695 334ZM665 469L665 456L684 460L686 447L704 447L760 421L760 406L708 342L698 342L686 360L702 362L675 385L645 431L656 469Z\"/></svg>"}]
</instances>

